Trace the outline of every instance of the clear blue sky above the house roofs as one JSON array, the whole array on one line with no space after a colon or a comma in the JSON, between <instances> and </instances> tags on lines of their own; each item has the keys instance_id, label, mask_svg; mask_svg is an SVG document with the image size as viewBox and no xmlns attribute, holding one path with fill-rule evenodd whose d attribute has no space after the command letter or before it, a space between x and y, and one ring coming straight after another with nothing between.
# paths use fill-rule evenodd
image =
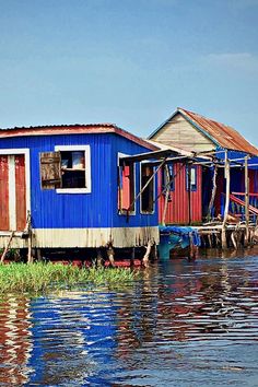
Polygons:
<instances>
[{"instance_id":1,"label":"clear blue sky above the house roofs","mask_svg":"<svg viewBox=\"0 0 258 387\"><path fill-rule=\"evenodd\" d=\"M115 122L177 106L258 145L258 0L0 0L0 127Z\"/></svg>"}]
</instances>

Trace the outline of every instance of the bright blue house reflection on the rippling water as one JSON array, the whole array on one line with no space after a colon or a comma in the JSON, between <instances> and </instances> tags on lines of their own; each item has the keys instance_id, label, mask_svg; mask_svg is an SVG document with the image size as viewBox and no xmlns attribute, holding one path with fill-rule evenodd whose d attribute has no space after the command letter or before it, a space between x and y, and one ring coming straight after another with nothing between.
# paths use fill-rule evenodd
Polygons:
<instances>
[{"instance_id":1,"label":"bright blue house reflection on the rippling water","mask_svg":"<svg viewBox=\"0 0 258 387\"><path fill-rule=\"evenodd\" d=\"M28 385L105 385L116 349L112 294L69 293L32 302Z\"/></svg>"}]
</instances>

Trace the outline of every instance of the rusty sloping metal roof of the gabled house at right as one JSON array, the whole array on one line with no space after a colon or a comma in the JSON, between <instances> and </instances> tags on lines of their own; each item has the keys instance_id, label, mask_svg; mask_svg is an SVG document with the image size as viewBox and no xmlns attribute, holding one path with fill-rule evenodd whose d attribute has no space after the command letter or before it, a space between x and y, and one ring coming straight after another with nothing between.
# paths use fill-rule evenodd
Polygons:
<instances>
[{"instance_id":1,"label":"rusty sloping metal roof of the gabled house at right","mask_svg":"<svg viewBox=\"0 0 258 387\"><path fill-rule=\"evenodd\" d=\"M180 113L190 124L204 136L208 134L221 148L258 155L258 149L251 145L234 128L180 107L178 107L177 113Z\"/></svg>"}]
</instances>

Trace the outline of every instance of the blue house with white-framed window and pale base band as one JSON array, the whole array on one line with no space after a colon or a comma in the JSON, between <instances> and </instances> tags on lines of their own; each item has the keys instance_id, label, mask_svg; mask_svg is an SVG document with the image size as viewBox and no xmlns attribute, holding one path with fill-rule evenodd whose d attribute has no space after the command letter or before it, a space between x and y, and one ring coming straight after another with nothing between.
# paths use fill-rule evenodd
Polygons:
<instances>
[{"instance_id":1,"label":"blue house with white-framed window and pale base band","mask_svg":"<svg viewBox=\"0 0 258 387\"><path fill-rule=\"evenodd\" d=\"M0 130L0 247L97 248L159 243L154 169L119 157L155 150L110 124Z\"/></svg>"}]
</instances>

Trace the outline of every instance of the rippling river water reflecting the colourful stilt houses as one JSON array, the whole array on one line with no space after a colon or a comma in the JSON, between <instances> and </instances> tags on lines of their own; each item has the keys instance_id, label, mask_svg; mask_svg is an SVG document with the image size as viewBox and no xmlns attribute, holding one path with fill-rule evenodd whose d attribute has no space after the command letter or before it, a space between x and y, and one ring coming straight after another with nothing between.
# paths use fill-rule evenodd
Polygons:
<instances>
[{"instance_id":1,"label":"rippling river water reflecting the colourful stilt houses","mask_svg":"<svg viewBox=\"0 0 258 387\"><path fill-rule=\"evenodd\" d=\"M258 386L258 250L0 302L0 386Z\"/></svg>"}]
</instances>

